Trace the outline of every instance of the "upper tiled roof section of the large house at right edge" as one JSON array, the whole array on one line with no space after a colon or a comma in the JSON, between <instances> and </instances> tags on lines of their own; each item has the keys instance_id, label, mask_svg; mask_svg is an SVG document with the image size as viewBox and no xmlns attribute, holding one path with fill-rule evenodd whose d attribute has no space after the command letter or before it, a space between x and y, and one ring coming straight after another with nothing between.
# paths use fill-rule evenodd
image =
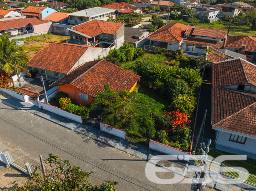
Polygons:
<instances>
[{"instance_id":1,"label":"upper tiled roof section of the large house at right edge","mask_svg":"<svg viewBox=\"0 0 256 191\"><path fill-rule=\"evenodd\" d=\"M250 83L256 86L256 65L240 58L212 64L212 86Z\"/></svg>"}]
</instances>

